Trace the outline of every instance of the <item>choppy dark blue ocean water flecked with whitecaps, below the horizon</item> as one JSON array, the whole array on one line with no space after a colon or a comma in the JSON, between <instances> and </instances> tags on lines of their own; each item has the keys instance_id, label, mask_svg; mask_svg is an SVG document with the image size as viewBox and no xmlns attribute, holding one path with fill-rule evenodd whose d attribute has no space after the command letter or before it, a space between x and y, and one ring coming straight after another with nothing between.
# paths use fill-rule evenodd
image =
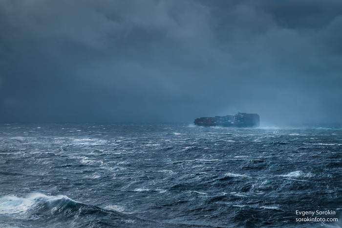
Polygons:
<instances>
[{"instance_id":1,"label":"choppy dark blue ocean water flecked with whitecaps, below the horizon","mask_svg":"<svg viewBox=\"0 0 342 228\"><path fill-rule=\"evenodd\" d=\"M1 124L0 227L337 228L341 159L337 125Z\"/></svg>"}]
</instances>

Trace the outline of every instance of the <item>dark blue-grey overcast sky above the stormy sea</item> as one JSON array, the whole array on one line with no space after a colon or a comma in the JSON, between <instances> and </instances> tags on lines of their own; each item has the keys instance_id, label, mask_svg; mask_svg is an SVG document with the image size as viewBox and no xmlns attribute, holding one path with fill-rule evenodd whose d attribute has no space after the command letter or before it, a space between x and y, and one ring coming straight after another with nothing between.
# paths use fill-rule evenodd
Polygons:
<instances>
[{"instance_id":1,"label":"dark blue-grey overcast sky above the stormy sea","mask_svg":"<svg viewBox=\"0 0 342 228\"><path fill-rule=\"evenodd\" d=\"M341 0L0 0L0 122L342 122Z\"/></svg>"}]
</instances>

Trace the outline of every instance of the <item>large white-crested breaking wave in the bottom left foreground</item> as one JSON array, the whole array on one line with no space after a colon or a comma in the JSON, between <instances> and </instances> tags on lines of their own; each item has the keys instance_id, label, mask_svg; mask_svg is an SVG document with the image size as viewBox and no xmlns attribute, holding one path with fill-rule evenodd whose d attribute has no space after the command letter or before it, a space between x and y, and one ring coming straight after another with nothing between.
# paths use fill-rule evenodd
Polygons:
<instances>
[{"instance_id":1,"label":"large white-crested breaking wave in the bottom left foreground","mask_svg":"<svg viewBox=\"0 0 342 228\"><path fill-rule=\"evenodd\" d=\"M24 227L35 227L35 224L40 227L38 224L42 222L47 227L61 227L61 224L63 227L73 227L75 223L80 222L80 218L84 220L82 227L101 227L105 224L97 219L98 216L109 217L111 222L107 222L106 225L111 226L125 227L127 224L145 223L142 219L119 212L120 210L122 210L120 206L107 206L103 209L77 202L64 195L47 196L42 193L32 193L27 197L0 198L0 215L6 215L12 218L11 220L22 221L21 226ZM4 221L4 225L10 226L10 224L9 221Z\"/></svg>"}]
</instances>

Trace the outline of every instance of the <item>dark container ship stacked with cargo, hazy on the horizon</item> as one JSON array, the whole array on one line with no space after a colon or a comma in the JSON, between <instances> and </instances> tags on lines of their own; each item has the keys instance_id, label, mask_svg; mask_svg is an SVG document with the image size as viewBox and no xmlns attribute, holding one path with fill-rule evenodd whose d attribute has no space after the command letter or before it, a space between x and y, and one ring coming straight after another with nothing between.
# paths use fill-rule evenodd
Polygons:
<instances>
[{"instance_id":1,"label":"dark container ship stacked with cargo, hazy on the horizon","mask_svg":"<svg viewBox=\"0 0 342 228\"><path fill-rule=\"evenodd\" d=\"M237 113L235 115L200 117L196 118L193 123L204 127L258 127L260 125L260 117L258 114Z\"/></svg>"}]
</instances>

